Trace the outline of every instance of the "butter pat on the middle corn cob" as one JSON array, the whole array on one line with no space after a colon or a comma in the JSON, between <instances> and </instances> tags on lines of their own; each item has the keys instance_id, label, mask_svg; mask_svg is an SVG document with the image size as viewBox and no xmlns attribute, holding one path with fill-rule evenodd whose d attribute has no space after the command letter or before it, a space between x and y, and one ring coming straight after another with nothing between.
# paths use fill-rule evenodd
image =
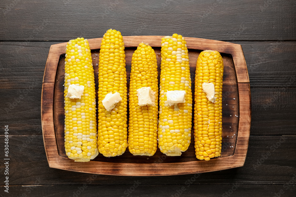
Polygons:
<instances>
[{"instance_id":1,"label":"butter pat on the middle corn cob","mask_svg":"<svg viewBox=\"0 0 296 197\"><path fill-rule=\"evenodd\" d=\"M137 89L138 105L155 105L155 94L151 87L141 87Z\"/></svg>"}]
</instances>

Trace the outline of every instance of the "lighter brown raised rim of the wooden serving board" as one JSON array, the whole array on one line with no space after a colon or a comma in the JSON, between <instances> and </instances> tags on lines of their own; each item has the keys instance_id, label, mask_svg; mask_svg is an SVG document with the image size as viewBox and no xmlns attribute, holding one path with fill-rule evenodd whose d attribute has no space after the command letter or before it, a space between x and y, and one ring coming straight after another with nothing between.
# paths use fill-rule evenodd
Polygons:
<instances>
[{"instance_id":1,"label":"lighter brown raised rim of the wooden serving board","mask_svg":"<svg viewBox=\"0 0 296 197\"><path fill-rule=\"evenodd\" d=\"M142 41L149 42L151 47L160 47L161 38L163 38L163 36L123 36L125 47L137 47L138 43L141 43ZM188 46L189 49L211 49L232 56L237 76L239 95L239 126L237 141L234 147L235 150L232 156L215 158L210 161L196 160L178 163L116 163L90 161L80 162L79 165L77 162L73 162L73 160L68 159L67 157L60 156L57 150L54 128L54 83L56 80L59 57L62 54L65 54L67 43L59 43L51 45L49 49L44 69L41 93L41 126L49 167L102 175L162 176L212 172L243 166L247 155L250 137L251 94L247 64L242 51L242 46L218 40L189 37L185 37L185 39L187 43L190 43L190 46ZM99 49L101 40L102 38L88 39L90 49ZM135 45L134 43L137 44ZM53 144L55 144L55 146ZM185 165L186 167L184 167Z\"/></svg>"}]
</instances>

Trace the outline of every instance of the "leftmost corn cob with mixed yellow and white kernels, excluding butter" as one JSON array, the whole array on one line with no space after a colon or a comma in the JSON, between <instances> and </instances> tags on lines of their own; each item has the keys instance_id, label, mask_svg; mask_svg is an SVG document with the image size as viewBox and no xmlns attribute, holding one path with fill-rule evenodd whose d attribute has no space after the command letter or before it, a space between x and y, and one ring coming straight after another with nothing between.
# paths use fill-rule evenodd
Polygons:
<instances>
[{"instance_id":1,"label":"leftmost corn cob with mixed yellow and white kernels, excluding butter","mask_svg":"<svg viewBox=\"0 0 296 197\"><path fill-rule=\"evenodd\" d=\"M81 99L70 99L70 84L84 86ZM84 38L67 43L65 59L65 151L75 162L88 162L98 154L96 95L89 43Z\"/></svg>"}]
</instances>

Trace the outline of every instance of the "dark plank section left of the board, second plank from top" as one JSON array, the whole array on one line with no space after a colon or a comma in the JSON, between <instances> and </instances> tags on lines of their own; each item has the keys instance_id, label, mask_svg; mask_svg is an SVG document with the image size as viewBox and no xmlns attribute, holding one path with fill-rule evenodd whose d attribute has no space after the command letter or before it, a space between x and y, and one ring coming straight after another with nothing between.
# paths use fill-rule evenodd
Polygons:
<instances>
[{"instance_id":1,"label":"dark plank section left of the board, second plank from top","mask_svg":"<svg viewBox=\"0 0 296 197\"><path fill-rule=\"evenodd\" d=\"M0 42L0 87L41 88L52 44L56 42Z\"/></svg>"}]
</instances>

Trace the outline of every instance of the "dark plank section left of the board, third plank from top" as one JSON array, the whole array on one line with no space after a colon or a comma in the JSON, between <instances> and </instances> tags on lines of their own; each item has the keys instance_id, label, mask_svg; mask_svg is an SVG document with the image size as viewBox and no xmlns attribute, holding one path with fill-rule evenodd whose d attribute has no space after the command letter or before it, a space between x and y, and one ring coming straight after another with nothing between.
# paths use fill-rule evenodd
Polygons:
<instances>
[{"instance_id":1,"label":"dark plank section left of the board, third plank from top","mask_svg":"<svg viewBox=\"0 0 296 197\"><path fill-rule=\"evenodd\" d=\"M0 89L0 100L0 122L10 135L42 135L41 89Z\"/></svg>"}]
</instances>

